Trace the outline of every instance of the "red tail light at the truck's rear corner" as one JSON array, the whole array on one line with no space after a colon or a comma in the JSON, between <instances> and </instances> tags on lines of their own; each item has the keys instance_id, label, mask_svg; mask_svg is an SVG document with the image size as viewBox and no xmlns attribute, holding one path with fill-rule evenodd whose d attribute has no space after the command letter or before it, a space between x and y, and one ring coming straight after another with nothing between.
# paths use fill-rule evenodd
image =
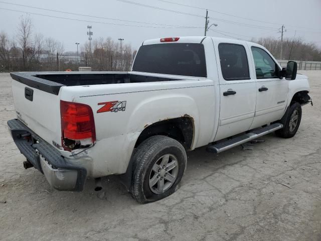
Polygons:
<instances>
[{"instance_id":1,"label":"red tail light at the truck's rear corner","mask_svg":"<svg viewBox=\"0 0 321 241\"><path fill-rule=\"evenodd\" d=\"M60 116L61 116L61 132L62 146L65 150L65 139L80 141L91 140L96 141L96 131L94 123L94 115L92 109L87 104L60 101Z\"/></svg>"}]
</instances>

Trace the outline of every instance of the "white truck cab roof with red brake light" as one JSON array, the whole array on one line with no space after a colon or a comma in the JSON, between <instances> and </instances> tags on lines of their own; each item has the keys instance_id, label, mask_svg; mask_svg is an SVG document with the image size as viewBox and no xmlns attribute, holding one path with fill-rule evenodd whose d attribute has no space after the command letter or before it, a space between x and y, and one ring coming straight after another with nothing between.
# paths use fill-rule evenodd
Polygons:
<instances>
[{"instance_id":1,"label":"white truck cab roof with red brake light","mask_svg":"<svg viewBox=\"0 0 321 241\"><path fill-rule=\"evenodd\" d=\"M233 43L246 43L248 41L244 40L237 40L237 39L228 39L228 38L218 38L218 37L211 37L211 36L184 36L184 37L170 37L170 38L179 38L177 41L173 41L170 43L201 43L205 38L212 38L213 40L218 40L222 42L233 42ZM157 39L149 39L142 42L141 45L149 45L149 44L162 44L162 43L169 43L169 42L161 42L161 39L163 38L157 38Z\"/></svg>"}]
</instances>

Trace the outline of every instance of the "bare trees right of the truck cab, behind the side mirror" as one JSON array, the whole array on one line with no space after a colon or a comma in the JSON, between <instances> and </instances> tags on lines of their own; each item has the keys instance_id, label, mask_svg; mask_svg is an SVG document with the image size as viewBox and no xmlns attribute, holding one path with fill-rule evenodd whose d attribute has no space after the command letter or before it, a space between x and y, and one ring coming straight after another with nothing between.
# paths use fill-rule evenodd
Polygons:
<instances>
[{"instance_id":1,"label":"bare trees right of the truck cab, behind the side mirror","mask_svg":"<svg viewBox=\"0 0 321 241\"><path fill-rule=\"evenodd\" d=\"M287 60L291 52L291 60L321 61L321 49L313 43L305 43L301 38L295 38L294 41L284 39L283 42L274 38L260 38L252 41L263 45L277 59Z\"/></svg>"}]
</instances>

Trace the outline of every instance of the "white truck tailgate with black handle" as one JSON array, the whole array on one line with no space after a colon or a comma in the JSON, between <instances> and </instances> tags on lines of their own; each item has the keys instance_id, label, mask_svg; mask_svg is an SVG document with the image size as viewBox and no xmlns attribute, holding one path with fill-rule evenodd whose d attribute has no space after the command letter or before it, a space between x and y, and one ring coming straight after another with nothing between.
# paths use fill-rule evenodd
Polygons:
<instances>
[{"instance_id":1,"label":"white truck tailgate with black handle","mask_svg":"<svg viewBox=\"0 0 321 241\"><path fill-rule=\"evenodd\" d=\"M37 82L32 80L28 83L12 81L17 118L46 142L59 148L61 146L60 96L39 88L41 87Z\"/></svg>"}]
</instances>

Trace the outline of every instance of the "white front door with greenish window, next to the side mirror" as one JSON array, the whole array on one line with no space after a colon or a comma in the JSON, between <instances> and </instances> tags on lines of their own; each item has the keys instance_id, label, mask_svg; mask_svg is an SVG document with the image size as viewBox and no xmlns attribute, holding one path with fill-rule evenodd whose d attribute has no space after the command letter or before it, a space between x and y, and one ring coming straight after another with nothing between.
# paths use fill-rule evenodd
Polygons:
<instances>
[{"instance_id":1,"label":"white front door with greenish window, next to the side mirror","mask_svg":"<svg viewBox=\"0 0 321 241\"><path fill-rule=\"evenodd\" d=\"M249 47L256 79L256 108L252 129L282 117L287 104L288 80L279 79L280 67L265 49L255 44Z\"/></svg>"}]
</instances>

